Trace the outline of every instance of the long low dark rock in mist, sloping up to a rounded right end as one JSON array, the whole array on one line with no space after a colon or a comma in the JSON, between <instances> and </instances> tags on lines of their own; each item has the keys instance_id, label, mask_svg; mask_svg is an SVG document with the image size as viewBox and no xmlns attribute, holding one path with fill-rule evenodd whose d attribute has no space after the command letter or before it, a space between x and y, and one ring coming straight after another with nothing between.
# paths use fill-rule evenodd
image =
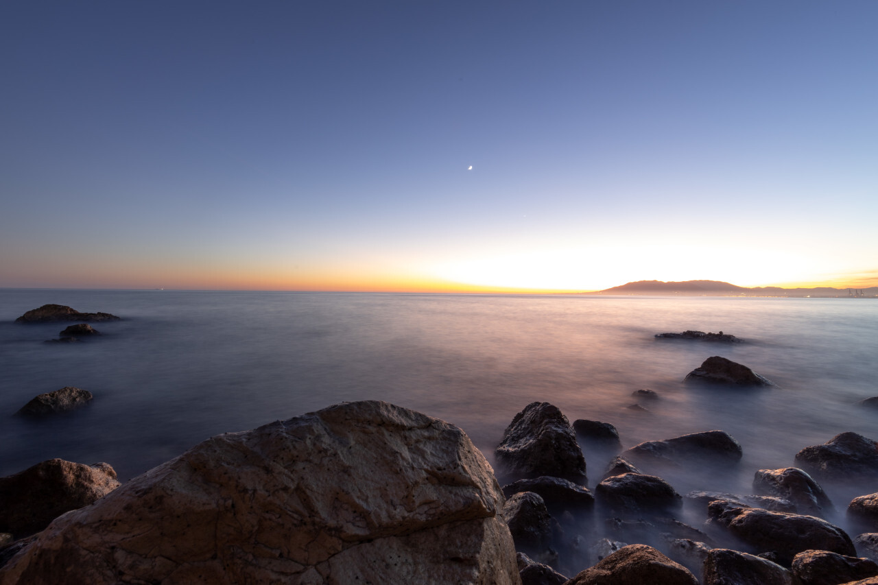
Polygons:
<instances>
[{"instance_id":1,"label":"long low dark rock in mist, sloping up to a rounded right end","mask_svg":"<svg viewBox=\"0 0 878 585\"><path fill-rule=\"evenodd\" d=\"M723 430L706 430L664 441L645 441L623 451L622 457L637 464L662 463L672 466L693 462L737 463L741 445Z\"/></svg>"}]
</instances>

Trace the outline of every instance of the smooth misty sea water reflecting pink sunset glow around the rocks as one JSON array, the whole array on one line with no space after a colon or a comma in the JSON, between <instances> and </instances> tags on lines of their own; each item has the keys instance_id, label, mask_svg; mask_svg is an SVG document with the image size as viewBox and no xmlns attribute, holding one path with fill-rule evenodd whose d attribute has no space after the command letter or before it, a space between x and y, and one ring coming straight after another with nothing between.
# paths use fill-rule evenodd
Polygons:
<instances>
[{"instance_id":1,"label":"smooth misty sea water reflecting pink sunset glow around the rocks","mask_svg":"<svg viewBox=\"0 0 878 585\"><path fill-rule=\"evenodd\" d=\"M95 324L96 340L43 343L64 325L12 321L45 303L124 321ZM749 493L755 469L791 466L802 447L846 430L878 438L878 412L853 406L878 394L876 328L868 299L2 290L0 475L60 457L106 461L126 480L212 435L363 399L454 423L493 461L515 413L551 401L571 422L614 423L626 447L726 430L744 446L740 471L675 487ZM653 337L685 329L746 343ZM681 383L713 355L779 387ZM95 400L12 416L62 386ZM647 412L628 408L640 388L661 396ZM592 487L604 461L587 452Z\"/></svg>"}]
</instances>

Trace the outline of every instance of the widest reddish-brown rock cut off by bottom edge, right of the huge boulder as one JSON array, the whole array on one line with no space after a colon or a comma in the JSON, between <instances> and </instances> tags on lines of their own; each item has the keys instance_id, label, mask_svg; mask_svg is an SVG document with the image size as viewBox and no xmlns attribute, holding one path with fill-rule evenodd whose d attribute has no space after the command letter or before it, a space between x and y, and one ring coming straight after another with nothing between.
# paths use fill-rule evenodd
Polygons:
<instances>
[{"instance_id":1,"label":"widest reddish-brown rock cut off by bottom edge, right of the huge boulder","mask_svg":"<svg viewBox=\"0 0 878 585\"><path fill-rule=\"evenodd\" d=\"M582 571L567 585L698 585L686 567L647 545L628 545Z\"/></svg>"}]
</instances>

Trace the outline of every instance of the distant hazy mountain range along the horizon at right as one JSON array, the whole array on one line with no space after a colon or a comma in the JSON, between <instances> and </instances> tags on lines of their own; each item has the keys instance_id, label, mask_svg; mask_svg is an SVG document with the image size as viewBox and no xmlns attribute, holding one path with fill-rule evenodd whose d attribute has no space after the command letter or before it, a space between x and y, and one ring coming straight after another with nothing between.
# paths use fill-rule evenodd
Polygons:
<instances>
[{"instance_id":1,"label":"distant hazy mountain range along the horizon at right","mask_svg":"<svg viewBox=\"0 0 878 585\"><path fill-rule=\"evenodd\" d=\"M878 297L878 286L863 289L831 288L781 288L779 286L732 285L719 280L685 280L682 282L663 282L661 280L638 280L626 285L614 286L596 293L585 294L641 294L641 295L682 295L682 296L745 296L745 297Z\"/></svg>"}]
</instances>

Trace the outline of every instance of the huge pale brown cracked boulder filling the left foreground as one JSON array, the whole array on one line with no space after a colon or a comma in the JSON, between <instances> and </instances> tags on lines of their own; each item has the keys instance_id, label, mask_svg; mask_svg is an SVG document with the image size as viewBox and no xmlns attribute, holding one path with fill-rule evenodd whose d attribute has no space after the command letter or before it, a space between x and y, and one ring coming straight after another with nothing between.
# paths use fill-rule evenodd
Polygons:
<instances>
[{"instance_id":1,"label":"huge pale brown cracked boulder filling the left foreground","mask_svg":"<svg viewBox=\"0 0 878 585\"><path fill-rule=\"evenodd\" d=\"M11 583L519 582L491 466L379 401L227 433L58 518Z\"/></svg>"}]
</instances>

